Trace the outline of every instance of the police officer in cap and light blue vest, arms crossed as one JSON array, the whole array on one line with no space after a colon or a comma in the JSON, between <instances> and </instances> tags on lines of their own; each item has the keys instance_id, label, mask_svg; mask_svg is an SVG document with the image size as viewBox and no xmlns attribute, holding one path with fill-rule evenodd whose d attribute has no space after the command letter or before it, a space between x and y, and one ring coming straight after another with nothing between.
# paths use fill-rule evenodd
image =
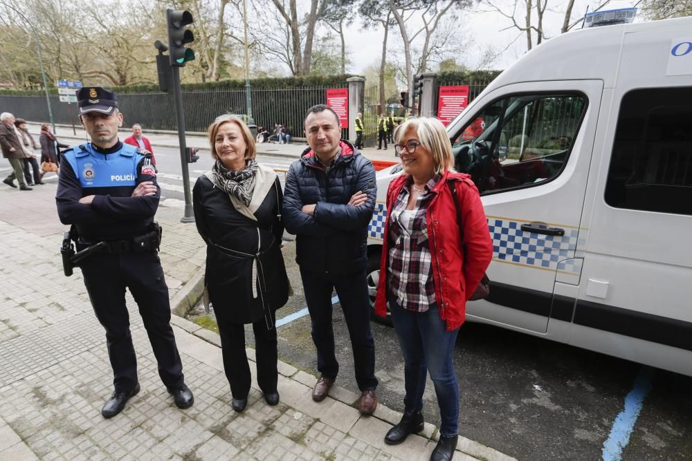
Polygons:
<instances>
[{"instance_id":1,"label":"police officer in cap and light blue vest, arms crossed","mask_svg":"<svg viewBox=\"0 0 692 461\"><path fill-rule=\"evenodd\" d=\"M194 398L170 326L168 287L157 256L160 232L154 223L161 189L151 155L118 140L122 113L112 91L84 87L77 93L80 121L91 142L65 151L57 187L57 213L78 234L77 250L92 248L82 261L84 285L106 330L115 391L101 414L113 417L140 391L129 331L125 288L144 321L158 362L158 375L178 408Z\"/></svg>"}]
</instances>

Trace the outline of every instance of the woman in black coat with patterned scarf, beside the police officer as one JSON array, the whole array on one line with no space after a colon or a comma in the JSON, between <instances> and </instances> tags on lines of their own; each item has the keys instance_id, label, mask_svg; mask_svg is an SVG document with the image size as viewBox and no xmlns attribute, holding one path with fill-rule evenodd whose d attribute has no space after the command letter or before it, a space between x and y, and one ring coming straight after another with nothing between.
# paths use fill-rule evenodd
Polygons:
<instances>
[{"instance_id":1,"label":"woman in black coat with patterned scarf, beside the police officer","mask_svg":"<svg viewBox=\"0 0 692 461\"><path fill-rule=\"evenodd\" d=\"M208 132L215 164L197 178L192 202L207 244L205 285L219 325L231 404L240 412L251 385L246 323L255 333L257 384L267 404L279 403L275 311L290 290L281 253L283 194L275 171L255 161L255 140L242 120L222 115Z\"/></svg>"}]
</instances>

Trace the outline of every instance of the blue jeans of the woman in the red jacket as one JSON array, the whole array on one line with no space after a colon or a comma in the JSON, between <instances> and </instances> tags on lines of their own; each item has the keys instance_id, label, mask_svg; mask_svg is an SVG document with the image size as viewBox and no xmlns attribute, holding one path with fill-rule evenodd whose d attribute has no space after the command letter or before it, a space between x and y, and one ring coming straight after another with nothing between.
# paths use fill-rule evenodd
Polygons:
<instances>
[{"instance_id":1,"label":"blue jeans of the woman in the red jacket","mask_svg":"<svg viewBox=\"0 0 692 461\"><path fill-rule=\"evenodd\" d=\"M439 318L437 304L430 305L426 312L414 312L402 308L392 297L388 297L394 330L399 336L403 352L404 411L410 413L423 408L423 393L430 372L439 405L441 424L439 431L445 437L459 433L459 384L454 371L452 352L457 342L459 328L446 331L444 321Z\"/></svg>"}]
</instances>

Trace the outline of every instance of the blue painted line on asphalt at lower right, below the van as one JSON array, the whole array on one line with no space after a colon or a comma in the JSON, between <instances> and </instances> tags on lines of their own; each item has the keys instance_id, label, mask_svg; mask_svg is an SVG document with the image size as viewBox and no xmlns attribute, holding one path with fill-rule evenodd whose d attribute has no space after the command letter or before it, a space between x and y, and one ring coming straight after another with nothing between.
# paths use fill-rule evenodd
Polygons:
<instances>
[{"instance_id":1,"label":"blue painted line on asphalt at lower right, below the van","mask_svg":"<svg viewBox=\"0 0 692 461\"><path fill-rule=\"evenodd\" d=\"M651 390L651 378L653 368L644 366L639 370L635 379L634 388L625 397L625 408L617 415L610 428L608 440L603 443L603 461L619 461L622 459L622 450L630 442L630 435L635 429L635 423L639 417L641 406L644 404L646 394Z\"/></svg>"}]
</instances>

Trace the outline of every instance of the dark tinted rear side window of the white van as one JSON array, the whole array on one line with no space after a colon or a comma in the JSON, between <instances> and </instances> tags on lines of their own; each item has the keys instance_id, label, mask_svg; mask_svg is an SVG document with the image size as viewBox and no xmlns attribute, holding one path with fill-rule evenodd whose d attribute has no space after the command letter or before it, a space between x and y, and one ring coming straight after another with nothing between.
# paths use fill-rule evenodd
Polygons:
<instances>
[{"instance_id":1,"label":"dark tinted rear side window of the white van","mask_svg":"<svg viewBox=\"0 0 692 461\"><path fill-rule=\"evenodd\" d=\"M647 88L622 98L605 203L692 214L692 88Z\"/></svg>"}]
</instances>

